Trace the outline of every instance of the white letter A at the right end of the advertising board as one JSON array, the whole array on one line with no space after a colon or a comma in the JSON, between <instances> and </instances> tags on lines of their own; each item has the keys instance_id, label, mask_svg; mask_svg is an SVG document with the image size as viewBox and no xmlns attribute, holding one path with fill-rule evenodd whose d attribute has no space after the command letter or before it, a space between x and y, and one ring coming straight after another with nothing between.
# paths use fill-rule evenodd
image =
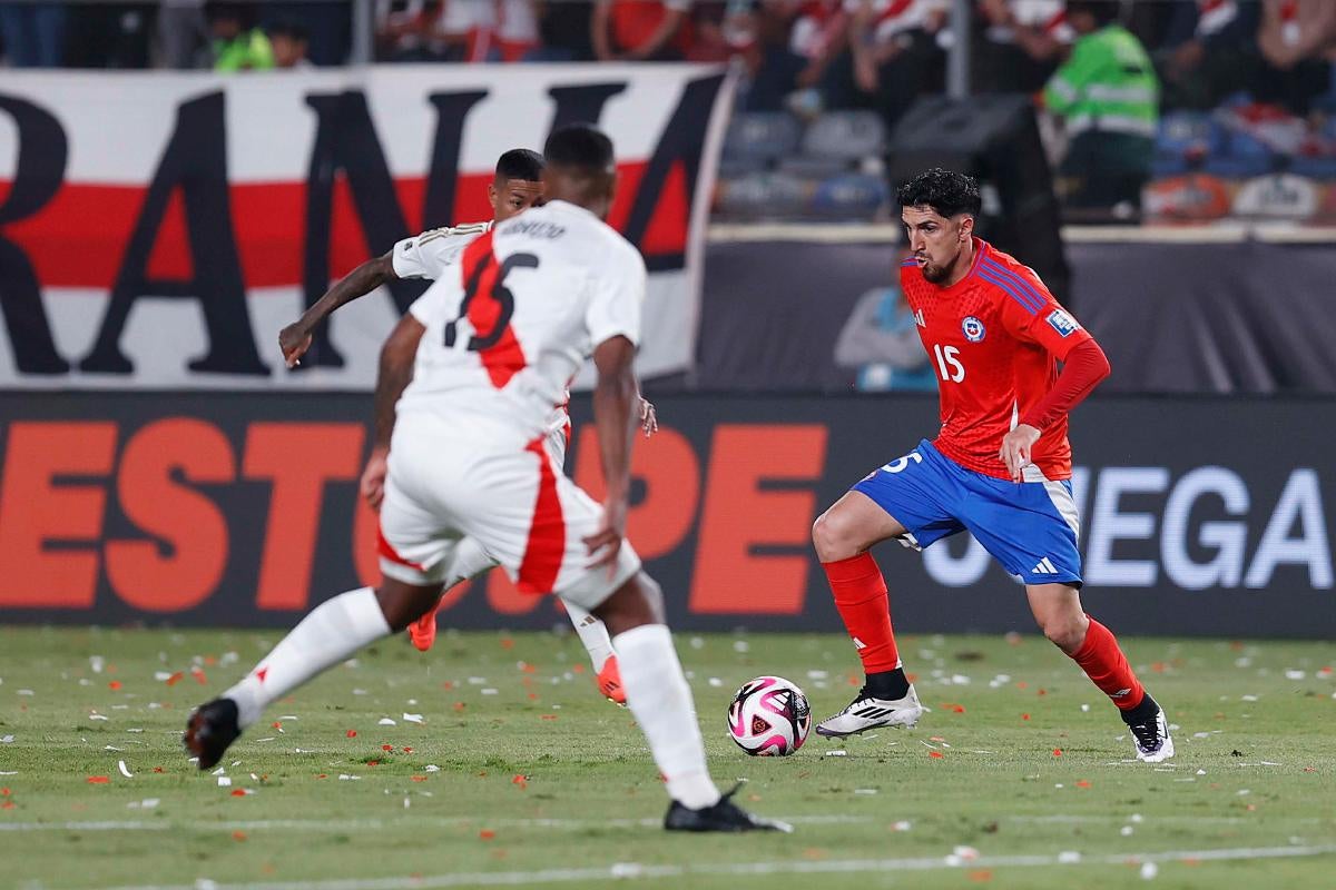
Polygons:
<instances>
[{"instance_id":1,"label":"white letter A at the right end of the advertising board","mask_svg":"<svg viewBox=\"0 0 1336 890\"><path fill-rule=\"evenodd\" d=\"M1289 536L1295 519L1303 524L1300 538ZM1267 531L1257 544L1257 554L1248 567L1244 586L1265 587L1271 583L1276 566L1281 563L1307 566L1308 583L1313 587L1329 590L1332 586L1332 547L1327 538L1323 495L1317 487L1317 472L1308 467L1289 474L1289 482L1280 492L1280 502L1271 514Z\"/></svg>"}]
</instances>

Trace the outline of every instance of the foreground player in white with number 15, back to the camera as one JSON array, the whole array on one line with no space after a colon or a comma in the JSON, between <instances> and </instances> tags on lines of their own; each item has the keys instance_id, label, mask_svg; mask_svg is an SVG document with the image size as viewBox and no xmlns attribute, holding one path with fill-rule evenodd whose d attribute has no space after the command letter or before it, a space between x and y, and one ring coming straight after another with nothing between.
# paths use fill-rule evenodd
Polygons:
<instances>
[{"instance_id":1,"label":"foreground player in white with number 15, back to the camera","mask_svg":"<svg viewBox=\"0 0 1336 890\"><path fill-rule=\"evenodd\" d=\"M211 769L266 706L433 608L462 544L476 542L521 591L553 592L613 634L627 705L672 798L664 827L787 829L745 813L709 778L663 595L623 539L647 272L604 221L616 184L612 141L565 127L544 153L548 204L469 244L458 274L413 304L381 352L375 435L377 444L391 440L381 586L317 606L190 717L186 747ZM601 506L544 448L552 406L591 355Z\"/></svg>"}]
</instances>

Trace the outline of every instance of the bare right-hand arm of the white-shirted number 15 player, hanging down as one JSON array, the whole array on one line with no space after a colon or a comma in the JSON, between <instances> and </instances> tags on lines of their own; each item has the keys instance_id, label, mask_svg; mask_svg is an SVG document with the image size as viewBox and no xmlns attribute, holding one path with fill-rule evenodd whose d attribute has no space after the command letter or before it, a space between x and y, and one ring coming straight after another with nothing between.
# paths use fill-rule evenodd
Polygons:
<instances>
[{"instance_id":1,"label":"bare right-hand arm of the white-shirted number 15 player, hanging down","mask_svg":"<svg viewBox=\"0 0 1336 890\"><path fill-rule=\"evenodd\" d=\"M599 454L608 495L603 502L603 526L584 539L593 556L592 566L615 566L621 539L627 534L627 504L631 499L631 443L640 419L632 408L640 395L632 362L636 347L624 336L613 336L593 351L599 383L593 390L593 420L599 430ZM635 419L633 419L635 418Z\"/></svg>"}]
</instances>

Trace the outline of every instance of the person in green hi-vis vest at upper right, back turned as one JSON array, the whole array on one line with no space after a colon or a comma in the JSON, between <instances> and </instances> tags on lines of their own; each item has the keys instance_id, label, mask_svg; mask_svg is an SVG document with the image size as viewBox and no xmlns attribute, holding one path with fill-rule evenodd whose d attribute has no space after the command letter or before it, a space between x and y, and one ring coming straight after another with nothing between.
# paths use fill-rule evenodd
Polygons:
<instances>
[{"instance_id":1,"label":"person in green hi-vis vest at upper right, back turned","mask_svg":"<svg viewBox=\"0 0 1336 890\"><path fill-rule=\"evenodd\" d=\"M1043 104L1066 124L1067 155L1058 171L1067 180L1066 205L1133 217L1150 179L1160 80L1117 12L1110 0L1067 3L1077 40L1043 88Z\"/></svg>"}]
</instances>

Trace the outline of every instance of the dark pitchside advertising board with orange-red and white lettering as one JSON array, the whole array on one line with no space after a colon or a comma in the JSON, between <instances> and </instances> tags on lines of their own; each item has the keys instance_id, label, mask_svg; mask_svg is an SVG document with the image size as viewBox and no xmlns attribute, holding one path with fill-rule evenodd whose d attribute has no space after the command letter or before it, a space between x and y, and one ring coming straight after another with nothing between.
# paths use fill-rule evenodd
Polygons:
<instances>
[{"instance_id":1,"label":"dark pitchside advertising board with orange-red and white lettering","mask_svg":"<svg viewBox=\"0 0 1336 890\"><path fill-rule=\"evenodd\" d=\"M601 494L588 404L568 472ZM1336 635L1328 402L1096 399L1074 420L1086 608L1120 631ZM816 515L935 423L930 396L671 398L629 538L684 628L838 630ZM378 580L359 395L0 394L0 622L283 626ZM1259 428L1285 428L1263 443ZM879 551L908 631L1030 626L969 536ZM550 627L501 572L458 627Z\"/></svg>"}]
</instances>

